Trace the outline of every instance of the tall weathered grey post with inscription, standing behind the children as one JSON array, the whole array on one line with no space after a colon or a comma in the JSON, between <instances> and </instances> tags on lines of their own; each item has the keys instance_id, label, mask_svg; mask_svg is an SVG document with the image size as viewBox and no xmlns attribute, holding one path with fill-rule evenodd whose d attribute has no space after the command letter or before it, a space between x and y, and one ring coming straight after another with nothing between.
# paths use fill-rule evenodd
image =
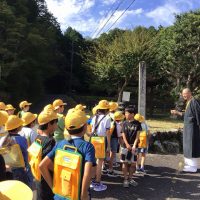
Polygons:
<instances>
[{"instance_id":1,"label":"tall weathered grey post with inscription, standing behind the children","mask_svg":"<svg viewBox=\"0 0 200 200\"><path fill-rule=\"evenodd\" d=\"M138 113L146 118L146 63L139 63Z\"/></svg>"}]
</instances>

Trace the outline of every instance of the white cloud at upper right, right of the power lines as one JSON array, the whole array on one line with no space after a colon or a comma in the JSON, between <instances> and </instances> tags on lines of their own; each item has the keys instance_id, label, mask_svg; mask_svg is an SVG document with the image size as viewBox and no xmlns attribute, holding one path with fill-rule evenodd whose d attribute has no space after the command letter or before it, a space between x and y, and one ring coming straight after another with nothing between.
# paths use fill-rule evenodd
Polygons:
<instances>
[{"instance_id":1,"label":"white cloud at upper right, right of the power lines","mask_svg":"<svg viewBox=\"0 0 200 200\"><path fill-rule=\"evenodd\" d=\"M179 14L185 9L192 9L192 2L189 0L166 0L163 6L158 6L154 10L146 13L146 17L152 18L157 26L172 25L175 14Z\"/></svg>"}]
</instances>

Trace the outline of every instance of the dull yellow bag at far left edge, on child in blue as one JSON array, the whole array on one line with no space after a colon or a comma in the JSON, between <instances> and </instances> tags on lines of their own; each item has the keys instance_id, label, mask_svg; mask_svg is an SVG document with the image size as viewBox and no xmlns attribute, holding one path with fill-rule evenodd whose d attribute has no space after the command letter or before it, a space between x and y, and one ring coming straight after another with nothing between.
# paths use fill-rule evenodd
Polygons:
<instances>
[{"instance_id":1,"label":"dull yellow bag at far left edge, on child in blue","mask_svg":"<svg viewBox=\"0 0 200 200\"><path fill-rule=\"evenodd\" d=\"M19 144L2 147L0 154L2 154L6 165L9 165L11 168L25 167L24 157Z\"/></svg>"}]
</instances>

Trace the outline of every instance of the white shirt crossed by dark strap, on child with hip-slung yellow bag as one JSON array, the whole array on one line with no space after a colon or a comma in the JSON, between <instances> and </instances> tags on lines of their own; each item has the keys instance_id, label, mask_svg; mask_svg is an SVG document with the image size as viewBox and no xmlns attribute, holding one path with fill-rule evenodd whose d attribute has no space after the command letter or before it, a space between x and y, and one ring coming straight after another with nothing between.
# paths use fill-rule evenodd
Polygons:
<instances>
[{"instance_id":1,"label":"white shirt crossed by dark strap, on child with hip-slung yellow bag","mask_svg":"<svg viewBox=\"0 0 200 200\"><path fill-rule=\"evenodd\" d=\"M94 131L95 126L99 123L99 121L100 121L104 116L105 116L105 115L99 115L96 124L95 124L96 115L92 118L92 122L91 122L91 125L92 125L92 132ZM101 122L100 122L100 124L99 124L99 126L98 126L98 128L97 128L96 134L97 134L98 136L106 136L106 131L110 129L110 124L111 124L110 117L109 117L109 116L105 116L105 117L101 120Z\"/></svg>"}]
</instances>

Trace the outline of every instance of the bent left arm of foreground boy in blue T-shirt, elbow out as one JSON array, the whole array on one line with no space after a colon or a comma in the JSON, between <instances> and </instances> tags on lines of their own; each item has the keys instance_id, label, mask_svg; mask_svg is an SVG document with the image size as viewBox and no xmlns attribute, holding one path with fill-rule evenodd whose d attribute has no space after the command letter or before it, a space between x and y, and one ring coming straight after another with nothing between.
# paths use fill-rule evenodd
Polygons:
<instances>
[{"instance_id":1,"label":"bent left arm of foreground boy in blue T-shirt, elbow out","mask_svg":"<svg viewBox=\"0 0 200 200\"><path fill-rule=\"evenodd\" d=\"M53 179L50 174L50 170L53 171L53 162L52 160L46 156L39 165L40 172L44 177L45 181L49 185L50 188L53 187Z\"/></svg>"}]
</instances>

